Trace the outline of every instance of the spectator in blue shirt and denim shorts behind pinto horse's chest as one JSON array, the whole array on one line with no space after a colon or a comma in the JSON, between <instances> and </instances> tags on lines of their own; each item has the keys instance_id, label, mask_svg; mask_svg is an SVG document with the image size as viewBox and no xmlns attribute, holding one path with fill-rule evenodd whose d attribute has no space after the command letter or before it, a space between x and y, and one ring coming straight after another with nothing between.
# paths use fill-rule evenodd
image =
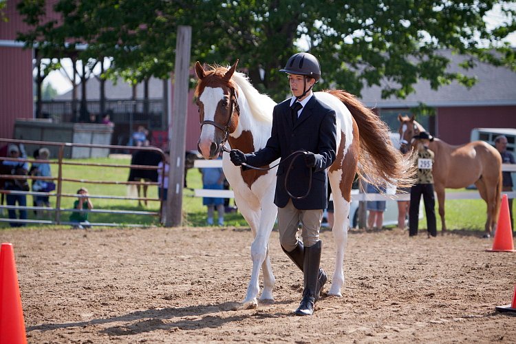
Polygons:
<instances>
[{"instance_id":1,"label":"spectator in blue shirt and denim shorts behind pinto horse's chest","mask_svg":"<svg viewBox=\"0 0 516 344\"><path fill-rule=\"evenodd\" d=\"M222 159L219 156L219 160ZM200 169L202 173L202 188L208 190L224 189L224 171L222 168L204 168ZM215 208L219 214L219 226L224 226L224 198L222 197L203 197L202 204L208 207L208 217L206 223L208 226L213 225L213 215Z\"/></svg>"}]
</instances>

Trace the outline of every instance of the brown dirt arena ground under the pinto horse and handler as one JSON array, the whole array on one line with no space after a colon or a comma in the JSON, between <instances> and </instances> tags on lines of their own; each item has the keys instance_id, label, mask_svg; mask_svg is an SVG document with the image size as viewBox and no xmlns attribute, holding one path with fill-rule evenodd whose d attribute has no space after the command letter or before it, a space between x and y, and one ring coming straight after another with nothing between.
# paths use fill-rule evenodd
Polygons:
<instances>
[{"instance_id":1,"label":"brown dirt arena ground under the pinto horse and handler","mask_svg":"<svg viewBox=\"0 0 516 344\"><path fill-rule=\"evenodd\" d=\"M272 232L275 303L234 310L250 275L247 228L4 230L29 343L515 343L516 253L456 231L409 239L351 230L343 297L292 316L302 277ZM332 233L321 233L333 272Z\"/></svg>"}]
</instances>

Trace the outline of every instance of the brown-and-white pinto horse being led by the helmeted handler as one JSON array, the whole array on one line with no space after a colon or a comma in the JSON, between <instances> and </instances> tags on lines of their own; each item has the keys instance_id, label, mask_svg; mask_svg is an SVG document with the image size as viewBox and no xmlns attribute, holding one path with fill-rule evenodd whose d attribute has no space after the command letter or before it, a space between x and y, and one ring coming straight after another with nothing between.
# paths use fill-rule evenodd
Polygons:
<instances>
[{"instance_id":1,"label":"brown-and-white pinto horse being led by the helmeted handler","mask_svg":"<svg viewBox=\"0 0 516 344\"><path fill-rule=\"evenodd\" d=\"M244 74L235 72L237 63L229 69L204 69L199 62L195 64L199 78L195 97L201 122L197 146L206 159L217 158L223 147L224 150L239 149L244 153L257 151L266 146L270 137L272 109L276 103L268 96L259 94ZM391 144L387 125L354 96L341 90L316 92L315 96L336 111L336 160L328 170L335 208L333 235L336 260L328 294L340 297L355 173L361 178L366 173L375 184L387 180L406 186L412 182L407 176L413 173L413 163L403 158ZM259 299L273 299L275 277L270 266L268 239L277 215L274 204L277 167L268 171L242 171L230 162L228 154L224 154L222 160L224 175L235 193L235 203L254 236L251 245L252 272L242 307L255 308L260 267L264 275L264 289Z\"/></svg>"}]
</instances>

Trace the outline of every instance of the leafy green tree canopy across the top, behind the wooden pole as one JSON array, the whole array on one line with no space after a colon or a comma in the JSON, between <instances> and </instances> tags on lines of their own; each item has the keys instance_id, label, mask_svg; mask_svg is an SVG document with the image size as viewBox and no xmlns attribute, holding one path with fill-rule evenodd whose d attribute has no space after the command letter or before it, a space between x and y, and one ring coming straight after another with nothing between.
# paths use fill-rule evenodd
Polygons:
<instances>
[{"instance_id":1,"label":"leafy green tree canopy across the top, behind the wooden pole","mask_svg":"<svg viewBox=\"0 0 516 344\"><path fill-rule=\"evenodd\" d=\"M358 0L136 1L59 0L61 21L48 20L45 1L22 0L18 9L33 30L20 34L28 46L61 54L87 43L83 61L111 56L109 73L133 83L173 71L178 25L193 27L192 61L230 64L239 59L252 83L281 100L288 91L278 72L294 52L309 50L323 66L321 87L359 95L367 85L383 97L405 97L418 79L433 89L474 78L447 72L447 49L477 61L516 69L515 51L502 43L515 31L516 1ZM486 12L501 6L506 22L491 30Z\"/></svg>"}]
</instances>

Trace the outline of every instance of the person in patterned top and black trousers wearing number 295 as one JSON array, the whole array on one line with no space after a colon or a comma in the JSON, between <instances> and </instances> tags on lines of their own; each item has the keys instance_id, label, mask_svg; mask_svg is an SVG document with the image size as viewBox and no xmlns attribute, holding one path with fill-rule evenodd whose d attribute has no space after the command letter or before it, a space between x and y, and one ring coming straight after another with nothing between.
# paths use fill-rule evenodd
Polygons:
<instances>
[{"instance_id":1,"label":"person in patterned top and black trousers wearing number 295","mask_svg":"<svg viewBox=\"0 0 516 344\"><path fill-rule=\"evenodd\" d=\"M428 237L437 236L436 227L436 197L433 195L433 175L432 166L434 160L433 151L428 148L433 137L426 131L413 137L418 144L418 175L416 184L410 188L409 206L409 236L418 235L419 222L419 202L423 195L424 211L427 215Z\"/></svg>"}]
</instances>

